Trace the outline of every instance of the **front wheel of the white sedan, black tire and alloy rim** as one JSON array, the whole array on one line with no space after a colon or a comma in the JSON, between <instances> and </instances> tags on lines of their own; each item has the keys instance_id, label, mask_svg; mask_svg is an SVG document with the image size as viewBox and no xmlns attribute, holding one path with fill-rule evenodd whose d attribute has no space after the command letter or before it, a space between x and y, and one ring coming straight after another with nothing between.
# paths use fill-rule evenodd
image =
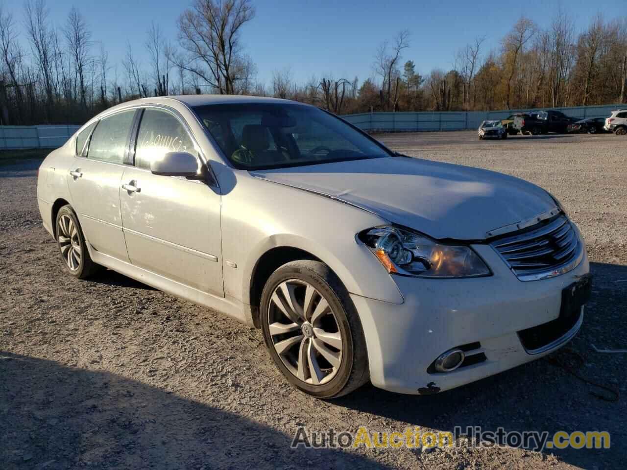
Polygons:
<instances>
[{"instance_id":1,"label":"front wheel of the white sedan, black tire and alloy rim","mask_svg":"<svg viewBox=\"0 0 627 470\"><path fill-rule=\"evenodd\" d=\"M303 309L309 292L308 307ZM293 303L297 307L292 309ZM266 281L260 308L270 356L298 390L331 399L349 394L370 379L361 321L348 291L326 264L311 260L283 264ZM327 343L330 338L333 342ZM313 366L310 354L315 358Z\"/></svg>"}]
</instances>

